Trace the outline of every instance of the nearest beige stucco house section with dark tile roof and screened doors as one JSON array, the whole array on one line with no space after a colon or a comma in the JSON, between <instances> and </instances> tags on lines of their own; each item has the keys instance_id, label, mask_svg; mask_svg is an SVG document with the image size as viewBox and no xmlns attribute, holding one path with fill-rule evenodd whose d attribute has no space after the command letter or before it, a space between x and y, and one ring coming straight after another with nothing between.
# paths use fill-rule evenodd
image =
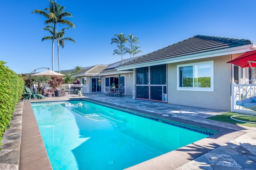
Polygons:
<instances>
[{"instance_id":1,"label":"nearest beige stucco house section with dark tile roof and screened doors","mask_svg":"<svg viewBox=\"0 0 256 170\"><path fill-rule=\"evenodd\" d=\"M134 99L230 111L231 83L250 75L248 68L227 62L255 49L246 39L196 35L120 64L116 71L132 70Z\"/></svg>"}]
</instances>

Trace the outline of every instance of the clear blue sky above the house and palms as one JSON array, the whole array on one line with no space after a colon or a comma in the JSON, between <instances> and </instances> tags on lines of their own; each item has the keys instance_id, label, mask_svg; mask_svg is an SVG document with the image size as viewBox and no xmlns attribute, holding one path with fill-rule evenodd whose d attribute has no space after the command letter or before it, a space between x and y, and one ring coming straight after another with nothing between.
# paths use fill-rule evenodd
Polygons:
<instances>
[{"instance_id":1,"label":"clear blue sky above the house and palms","mask_svg":"<svg viewBox=\"0 0 256 170\"><path fill-rule=\"evenodd\" d=\"M111 64L115 33L139 37L142 54L148 54L195 35L250 39L256 43L255 0L57 0L66 7L76 28L66 30L60 49L60 70L75 66ZM48 7L48 0L5 0L0 2L0 60L17 74L36 68L52 70L52 42L42 42L45 18L33 10ZM61 28L62 26L59 26ZM56 45L56 43L55 43ZM128 44L127 44L128 45ZM57 45L54 71L58 70ZM124 55L124 59L130 55ZM44 71L46 69L40 69Z\"/></svg>"}]
</instances>

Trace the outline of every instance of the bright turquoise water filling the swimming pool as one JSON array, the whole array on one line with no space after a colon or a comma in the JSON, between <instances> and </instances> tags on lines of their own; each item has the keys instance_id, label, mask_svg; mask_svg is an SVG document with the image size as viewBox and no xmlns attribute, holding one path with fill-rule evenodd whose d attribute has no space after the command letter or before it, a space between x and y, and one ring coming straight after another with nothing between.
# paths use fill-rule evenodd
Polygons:
<instances>
[{"instance_id":1,"label":"bright turquoise water filling the swimming pool","mask_svg":"<svg viewBox=\"0 0 256 170\"><path fill-rule=\"evenodd\" d=\"M54 170L120 170L208 137L85 101L32 108Z\"/></svg>"}]
</instances>

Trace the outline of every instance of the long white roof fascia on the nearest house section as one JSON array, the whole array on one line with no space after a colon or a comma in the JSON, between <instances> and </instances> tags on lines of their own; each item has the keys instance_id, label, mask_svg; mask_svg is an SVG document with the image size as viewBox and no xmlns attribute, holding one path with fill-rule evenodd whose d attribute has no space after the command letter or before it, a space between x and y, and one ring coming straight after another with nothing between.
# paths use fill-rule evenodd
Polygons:
<instances>
[{"instance_id":1,"label":"long white roof fascia on the nearest house section","mask_svg":"<svg viewBox=\"0 0 256 170\"><path fill-rule=\"evenodd\" d=\"M192 55L185 55L185 56L174 57L174 58L170 58L170 59L163 59L163 60L152 61L152 62L147 62L147 63L133 64L130 66L120 66L120 67L116 67L116 69L118 71L121 71L121 70L140 68L140 67L145 67L145 66L177 63L177 62L181 62L181 61L190 61L190 60L204 59L204 58L209 58L209 57L217 57L217 56L222 56L222 55L244 53L246 51L252 51L255 48L256 48L256 45L254 45L254 44L242 45L239 47L232 47L232 48L208 51L208 52L204 52L204 53L196 53L196 54L192 54Z\"/></svg>"}]
</instances>

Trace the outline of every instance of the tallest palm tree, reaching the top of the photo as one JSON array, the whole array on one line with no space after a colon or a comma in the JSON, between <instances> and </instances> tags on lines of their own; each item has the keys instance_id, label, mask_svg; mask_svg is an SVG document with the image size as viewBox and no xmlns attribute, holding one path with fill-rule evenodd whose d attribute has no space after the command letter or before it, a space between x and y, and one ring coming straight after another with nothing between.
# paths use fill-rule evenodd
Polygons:
<instances>
[{"instance_id":1,"label":"tallest palm tree, reaching the top of the photo","mask_svg":"<svg viewBox=\"0 0 256 170\"><path fill-rule=\"evenodd\" d=\"M49 8L45 8L43 10L34 10L32 12L36 13L36 14L40 14L44 17L46 17L47 19L44 21L44 23L46 25L48 24L52 24L53 25L53 34L52 34L52 71L54 71L54 40L55 40L55 28L56 25L58 23L60 24L66 24L70 27L74 27L75 25L73 22L68 21L68 20L64 20L64 18L66 17L73 17L72 14L70 14L69 12L64 12L65 7L64 6L60 6L58 3L51 1L49 3ZM47 13L48 12L48 13Z\"/></svg>"}]
</instances>

